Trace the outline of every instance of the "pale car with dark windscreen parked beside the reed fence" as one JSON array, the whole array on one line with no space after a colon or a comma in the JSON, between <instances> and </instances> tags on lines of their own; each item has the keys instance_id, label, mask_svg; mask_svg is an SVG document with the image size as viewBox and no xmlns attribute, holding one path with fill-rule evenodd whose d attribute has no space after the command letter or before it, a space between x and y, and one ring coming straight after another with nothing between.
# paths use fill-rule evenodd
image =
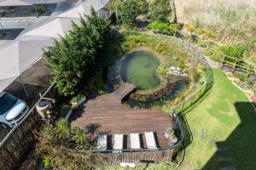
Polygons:
<instances>
[{"instance_id":1,"label":"pale car with dark windscreen parked beside the reed fence","mask_svg":"<svg viewBox=\"0 0 256 170\"><path fill-rule=\"evenodd\" d=\"M21 99L7 92L0 93L0 124L3 127L14 127L26 116L28 110L28 106Z\"/></svg>"}]
</instances>

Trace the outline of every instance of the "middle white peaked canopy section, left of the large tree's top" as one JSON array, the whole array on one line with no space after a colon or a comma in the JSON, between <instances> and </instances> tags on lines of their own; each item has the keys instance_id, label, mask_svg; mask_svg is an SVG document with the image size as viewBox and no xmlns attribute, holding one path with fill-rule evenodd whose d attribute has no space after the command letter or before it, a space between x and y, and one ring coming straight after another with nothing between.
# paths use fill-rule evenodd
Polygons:
<instances>
[{"instance_id":1,"label":"middle white peaked canopy section, left of the large tree's top","mask_svg":"<svg viewBox=\"0 0 256 170\"><path fill-rule=\"evenodd\" d=\"M25 36L43 36L43 37L59 37L64 36L72 25L72 21L77 23L78 19L55 18L50 20L43 26L27 31Z\"/></svg>"}]
</instances>

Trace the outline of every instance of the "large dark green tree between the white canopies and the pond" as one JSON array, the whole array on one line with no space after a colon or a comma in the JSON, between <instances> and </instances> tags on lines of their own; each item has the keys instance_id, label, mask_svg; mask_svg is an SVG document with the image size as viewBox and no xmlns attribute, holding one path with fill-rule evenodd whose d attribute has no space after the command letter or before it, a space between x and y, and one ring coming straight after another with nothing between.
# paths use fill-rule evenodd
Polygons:
<instances>
[{"instance_id":1,"label":"large dark green tree between the white canopies and the pond","mask_svg":"<svg viewBox=\"0 0 256 170\"><path fill-rule=\"evenodd\" d=\"M108 67L118 56L118 38L109 20L99 18L91 8L90 16L81 17L79 25L73 23L66 36L44 49L47 65L55 73L59 93L73 95L83 83L90 87L96 71Z\"/></svg>"}]
</instances>

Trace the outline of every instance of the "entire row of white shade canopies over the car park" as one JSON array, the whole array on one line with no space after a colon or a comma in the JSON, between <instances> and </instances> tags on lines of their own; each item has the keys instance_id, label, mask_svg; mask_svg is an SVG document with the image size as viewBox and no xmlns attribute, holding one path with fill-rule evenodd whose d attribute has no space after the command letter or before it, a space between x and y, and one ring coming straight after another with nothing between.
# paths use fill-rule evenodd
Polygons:
<instances>
[{"instance_id":1,"label":"entire row of white shade canopies over the car park","mask_svg":"<svg viewBox=\"0 0 256 170\"><path fill-rule=\"evenodd\" d=\"M43 26L27 31L15 42L2 48L0 51L0 93L7 88L15 78L19 77L32 64L41 58L44 46L49 46L51 37L65 35L71 26L72 20L77 23L79 14L90 14L90 6L104 8L110 0L85 0L78 7L59 14ZM0 6L32 5L35 0L0 0ZM98 2L98 3L97 3Z\"/></svg>"}]
</instances>

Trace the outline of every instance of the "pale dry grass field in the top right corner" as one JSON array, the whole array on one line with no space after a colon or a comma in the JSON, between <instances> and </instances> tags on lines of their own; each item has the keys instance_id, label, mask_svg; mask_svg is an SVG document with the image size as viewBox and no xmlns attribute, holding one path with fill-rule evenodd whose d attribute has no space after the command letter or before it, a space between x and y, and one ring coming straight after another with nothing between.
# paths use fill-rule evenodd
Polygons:
<instances>
[{"instance_id":1,"label":"pale dry grass field in the top right corner","mask_svg":"<svg viewBox=\"0 0 256 170\"><path fill-rule=\"evenodd\" d=\"M256 56L256 0L176 0L177 20L212 29L218 43L251 43ZM256 58L253 59L256 62Z\"/></svg>"}]
</instances>

